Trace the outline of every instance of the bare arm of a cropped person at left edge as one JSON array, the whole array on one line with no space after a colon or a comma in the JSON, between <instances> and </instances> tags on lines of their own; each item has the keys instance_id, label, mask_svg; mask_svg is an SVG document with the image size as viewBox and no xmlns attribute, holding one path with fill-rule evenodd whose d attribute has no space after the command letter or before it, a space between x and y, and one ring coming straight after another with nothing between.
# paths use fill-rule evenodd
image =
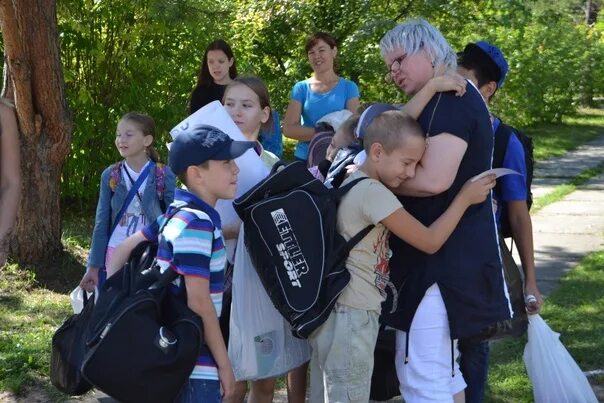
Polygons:
<instances>
[{"instance_id":1,"label":"bare arm of a cropped person at left edge","mask_svg":"<svg viewBox=\"0 0 604 403\"><path fill-rule=\"evenodd\" d=\"M4 266L21 195L21 159L15 112L0 104L0 267Z\"/></svg>"}]
</instances>

